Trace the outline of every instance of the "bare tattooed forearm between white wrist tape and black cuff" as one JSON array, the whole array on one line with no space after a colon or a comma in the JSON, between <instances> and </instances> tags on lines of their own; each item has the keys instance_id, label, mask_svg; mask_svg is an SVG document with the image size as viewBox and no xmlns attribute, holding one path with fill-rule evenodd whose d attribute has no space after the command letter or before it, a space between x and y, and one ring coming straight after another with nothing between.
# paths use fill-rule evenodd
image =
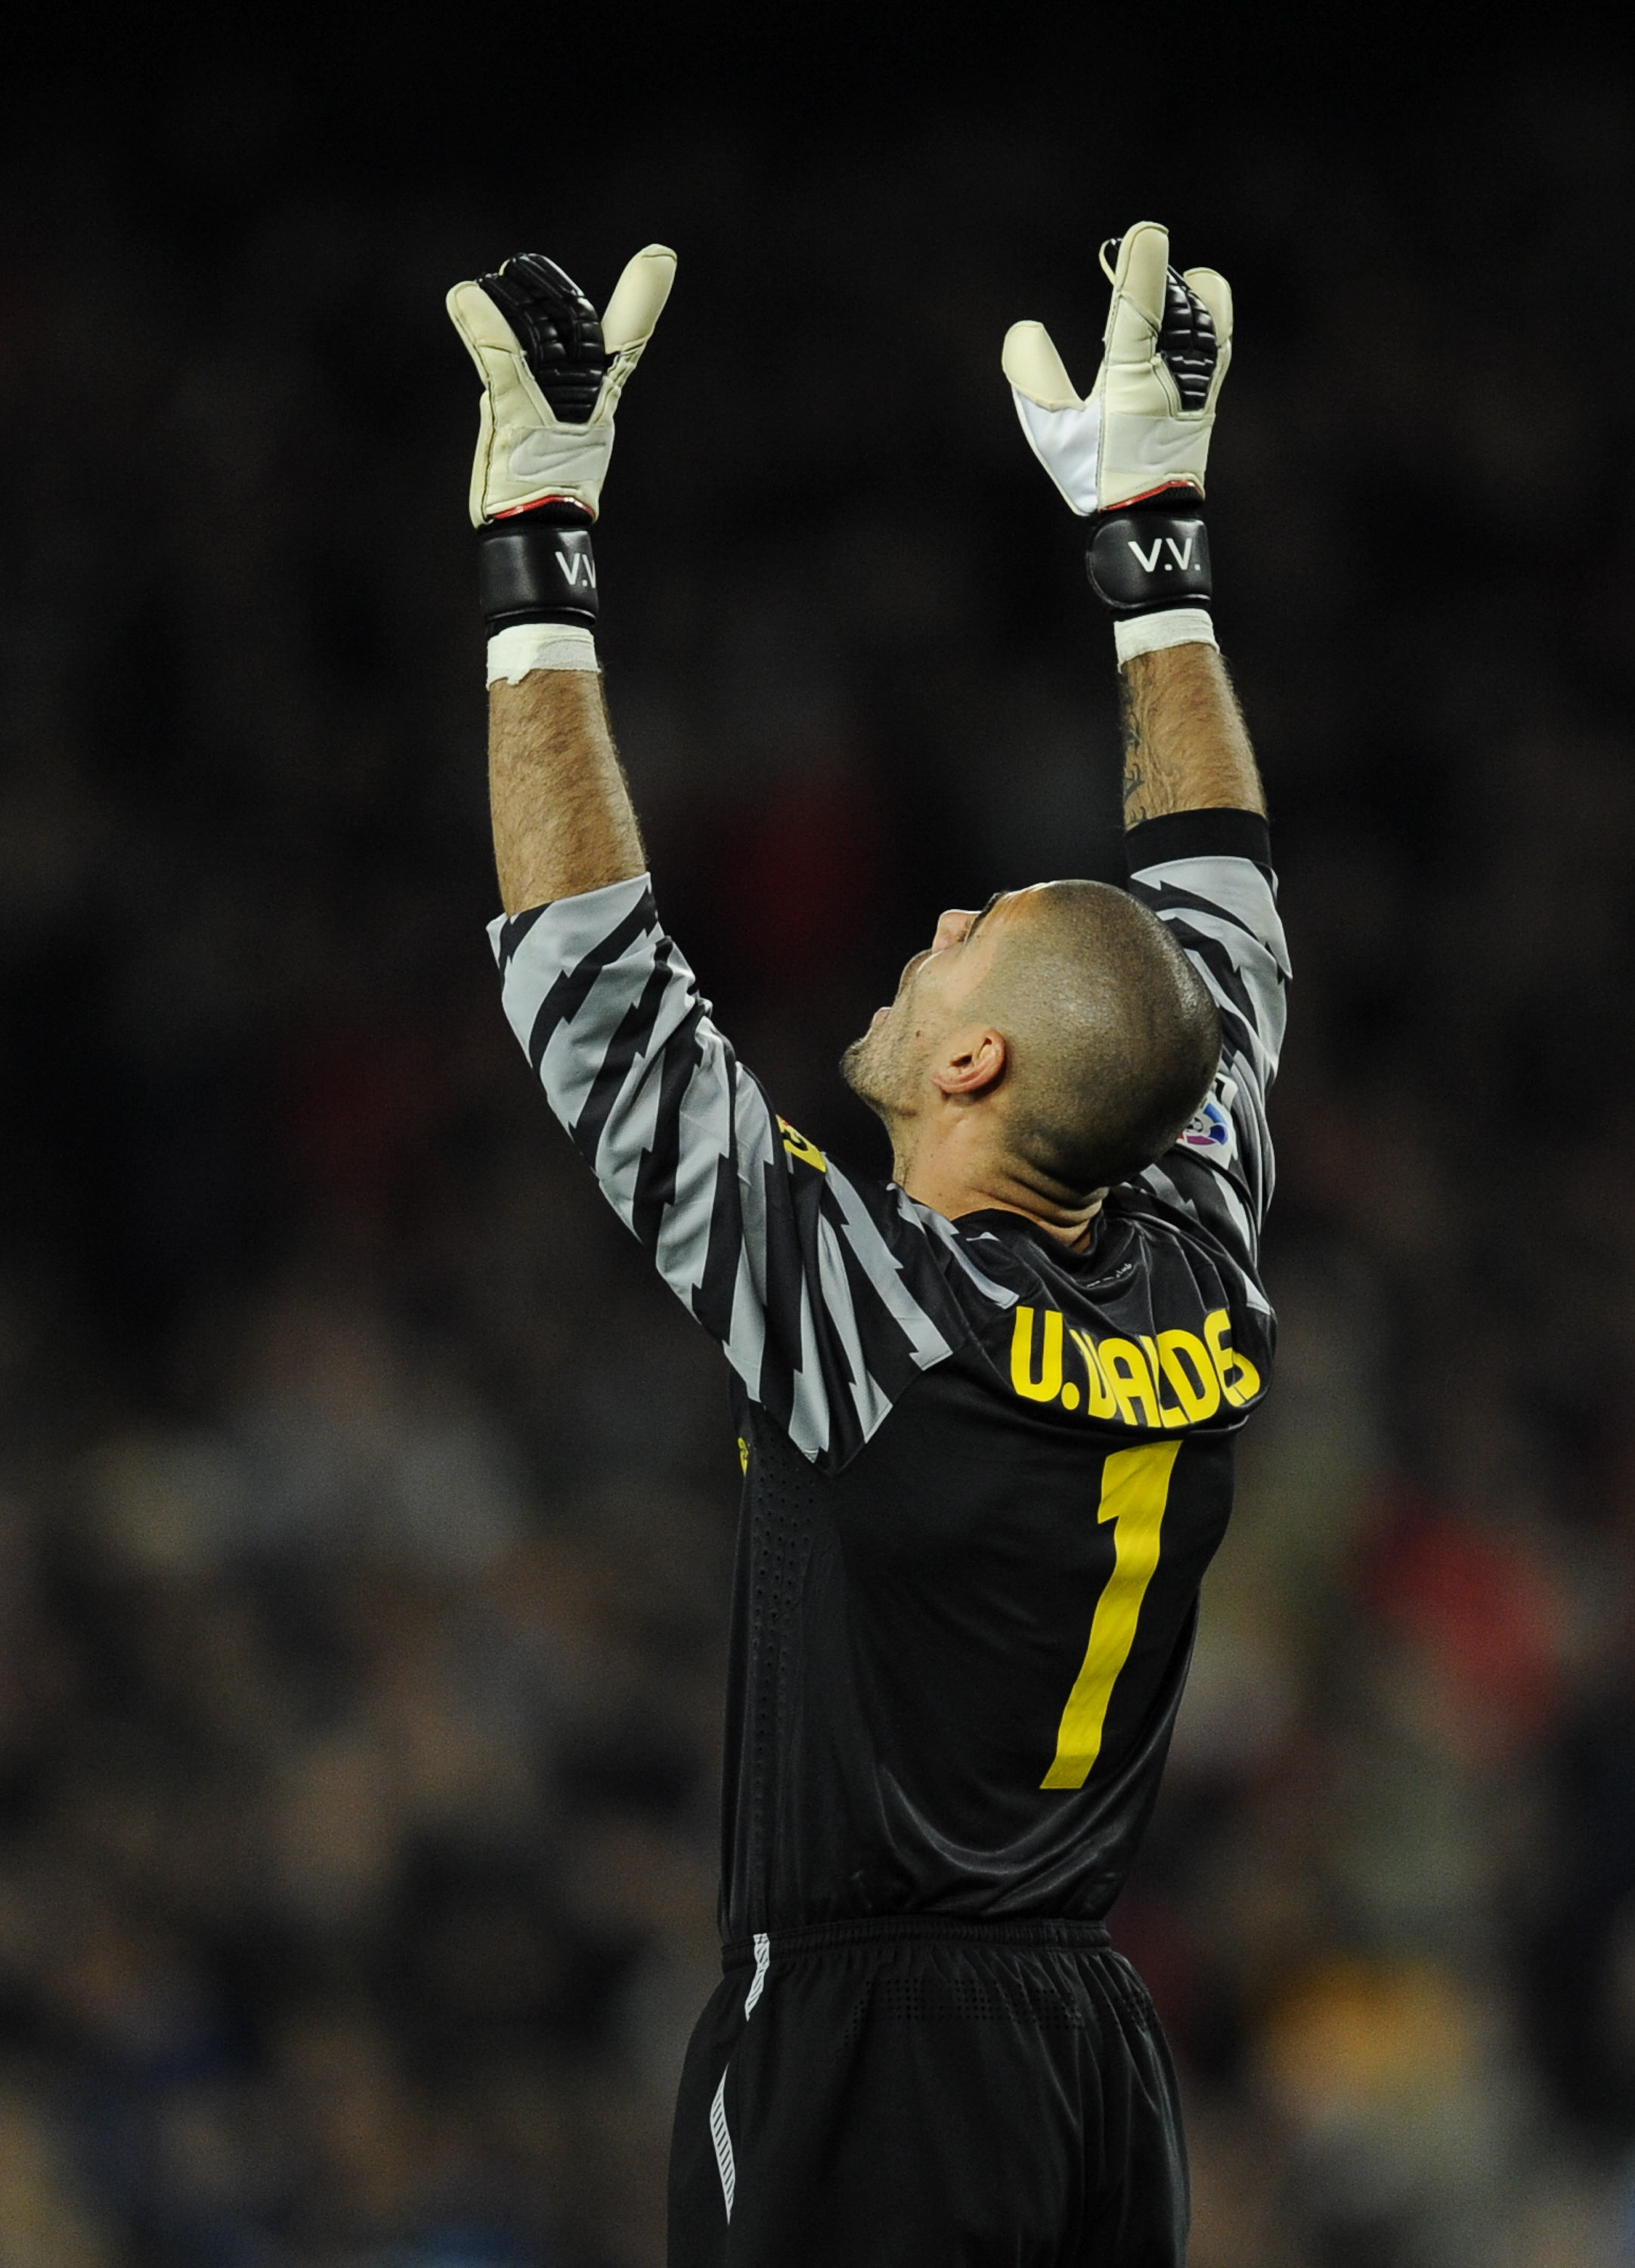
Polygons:
<instances>
[{"instance_id":1,"label":"bare tattooed forearm between white wrist tape and black cuff","mask_svg":"<svg viewBox=\"0 0 1635 2268\"><path fill-rule=\"evenodd\" d=\"M1213 646L1134 655L1120 699L1127 828L1166 812L1265 812L1238 696Z\"/></svg>"}]
</instances>

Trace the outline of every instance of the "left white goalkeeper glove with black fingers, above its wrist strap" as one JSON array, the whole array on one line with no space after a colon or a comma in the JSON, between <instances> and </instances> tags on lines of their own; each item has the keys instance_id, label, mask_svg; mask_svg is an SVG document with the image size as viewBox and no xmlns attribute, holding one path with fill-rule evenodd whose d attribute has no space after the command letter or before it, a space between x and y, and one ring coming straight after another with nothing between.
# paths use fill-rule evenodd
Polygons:
<instances>
[{"instance_id":1,"label":"left white goalkeeper glove with black fingers, above its wrist strap","mask_svg":"<svg viewBox=\"0 0 1635 2268\"><path fill-rule=\"evenodd\" d=\"M483 376L472 465L472 526L535 503L576 503L592 519L612 456L612 413L676 277L676 254L649 245L596 311L537 252L456 284L449 315Z\"/></svg>"}]
</instances>

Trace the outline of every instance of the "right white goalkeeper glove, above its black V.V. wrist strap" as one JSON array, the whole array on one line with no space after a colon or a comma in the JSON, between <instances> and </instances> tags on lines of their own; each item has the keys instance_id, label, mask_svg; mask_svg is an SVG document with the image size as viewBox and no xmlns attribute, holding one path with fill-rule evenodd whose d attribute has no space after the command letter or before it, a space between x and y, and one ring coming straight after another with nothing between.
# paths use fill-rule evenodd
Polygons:
<instances>
[{"instance_id":1,"label":"right white goalkeeper glove, above its black V.V. wrist strap","mask_svg":"<svg viewBox=\"0 0 1635 2268\"><path fill-rule=\"evenodd\" d=\"M1157 220L1138 220L1123 243L1102 245L1102 270L1113 304L1086 401L1041 322L1011 324L1002 354L1023 433L1082 517L1166 488L1204 492L1209 431L1231 361L1227 279L1213 268L1179 277L1170 234Z\"/></svg>"}]
</instances>

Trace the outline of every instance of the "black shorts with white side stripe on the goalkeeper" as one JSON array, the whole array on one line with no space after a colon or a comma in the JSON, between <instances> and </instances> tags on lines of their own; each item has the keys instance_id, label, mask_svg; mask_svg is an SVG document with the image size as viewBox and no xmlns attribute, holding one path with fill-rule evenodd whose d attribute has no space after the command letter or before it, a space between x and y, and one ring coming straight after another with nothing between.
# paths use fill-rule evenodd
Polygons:
<instances>
[{"instance_id":1,"label":"black shorts with white side stripe on the goalkeeper","mask_svg":"<svg viewBox=\"0 0 1635 2268\"><path fill-rule=\"evenodd\" d=\"M669 2268L1181 2268L1152 2000L1086 1923L728 1948L676 2105Z\"/></svg>"}]
</instances>

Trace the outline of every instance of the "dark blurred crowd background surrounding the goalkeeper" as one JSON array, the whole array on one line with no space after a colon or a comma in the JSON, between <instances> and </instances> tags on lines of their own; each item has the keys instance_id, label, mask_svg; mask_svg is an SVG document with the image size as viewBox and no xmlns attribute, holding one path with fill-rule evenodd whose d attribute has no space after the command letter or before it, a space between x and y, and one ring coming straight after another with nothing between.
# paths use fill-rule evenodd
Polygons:
<instances>
[{"instance_id":1,"label":"dark blurred crowd background surrounding the goalkeeper","mask_svg":"<svg viewBox=\"0 0 1635 2268\"><path fill-rule=\"evenodd\" d=\"M1297 966L1279 1390L1113 1923L1195 2268L1635 2261L1635 86L1585 11L61 18L0 93L0 2259L653 2268L712 1982L717 1359L483 923L460 277L680 277L599 531L780 1107L1116 855L998 376L1238 293Z\"/></svg>"}]
</instances>

